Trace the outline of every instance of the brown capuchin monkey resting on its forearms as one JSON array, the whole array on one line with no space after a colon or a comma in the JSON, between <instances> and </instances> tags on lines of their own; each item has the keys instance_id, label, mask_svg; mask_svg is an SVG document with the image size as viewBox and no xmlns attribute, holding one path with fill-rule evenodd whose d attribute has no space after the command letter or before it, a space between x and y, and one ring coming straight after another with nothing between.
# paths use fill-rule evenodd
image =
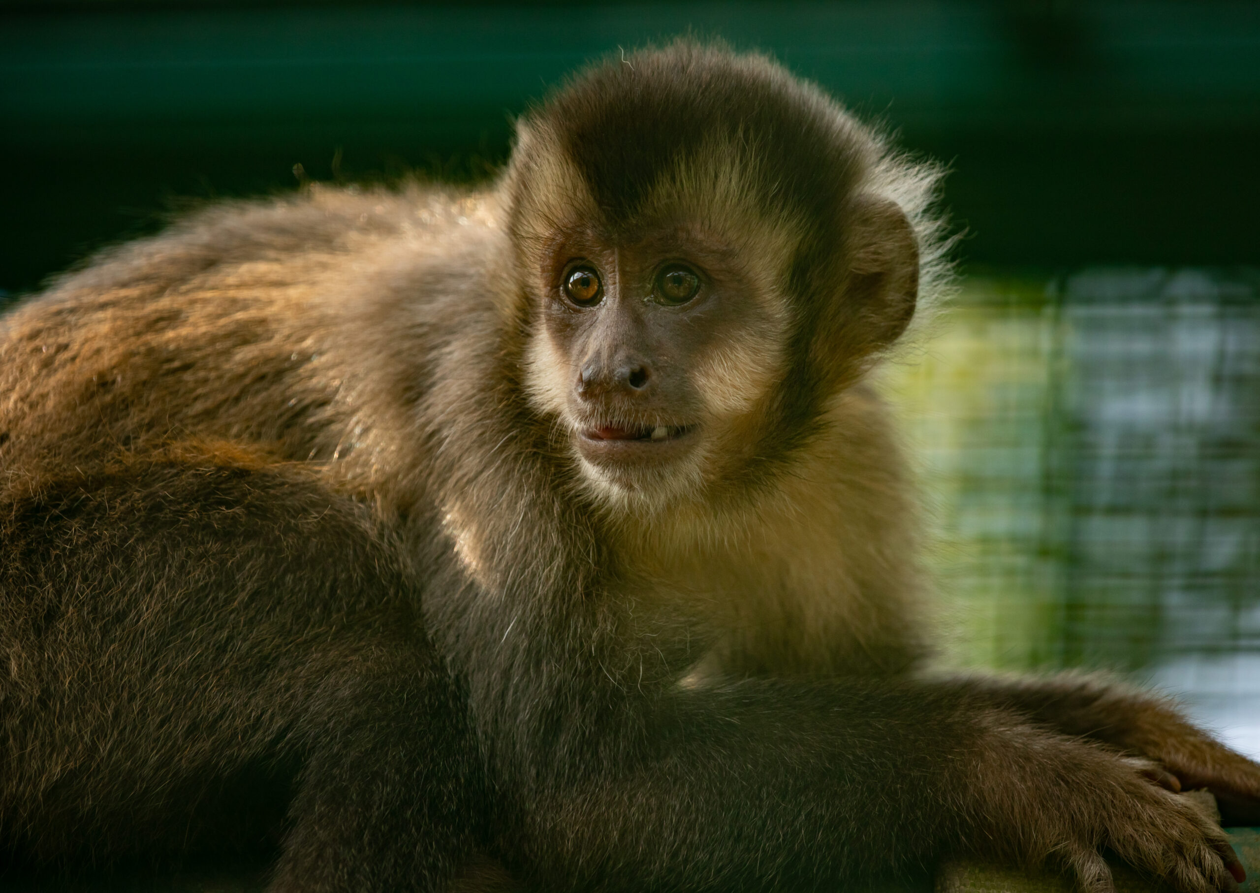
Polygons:
<instances>
[{"instance_id":1,"label":"brown capuchin monkey resting on its forearms","mask_svg":"<svg viewBox=\"0 0 1260 893\"><path fill-rule=\"evenodd\" d=\"M286 890L440 889L474 851L547 890L970 855L1102 892L1105 853L1235 889L1176 791L1254 821L1260 767L1168 702L925 671L869 377L948 281L936 179L678 42L529 111L484 191L220 204L18 306L5 845L287 810Z\"/></svg>"}]
</instances>

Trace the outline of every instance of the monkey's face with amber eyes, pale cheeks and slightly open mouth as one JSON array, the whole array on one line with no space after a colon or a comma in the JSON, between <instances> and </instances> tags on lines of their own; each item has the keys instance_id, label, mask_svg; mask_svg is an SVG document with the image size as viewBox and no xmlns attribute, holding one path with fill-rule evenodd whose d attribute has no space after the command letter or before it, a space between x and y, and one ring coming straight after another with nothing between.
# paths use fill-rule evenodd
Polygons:
<instances>
[{"instance_id":1,"label":"monkey's face with amber eyes, pale cheeks and slightly open mouth","mask_svg":"<svg viewBox=\"0 0 1260 893\"><path fill-rule=\"evenodd\" d=\"M687 222L640 233L554 234L528 384L600 495L659 508L752 448L789 314L776 276L723 234Z\"/></svg>"}]
</instances>

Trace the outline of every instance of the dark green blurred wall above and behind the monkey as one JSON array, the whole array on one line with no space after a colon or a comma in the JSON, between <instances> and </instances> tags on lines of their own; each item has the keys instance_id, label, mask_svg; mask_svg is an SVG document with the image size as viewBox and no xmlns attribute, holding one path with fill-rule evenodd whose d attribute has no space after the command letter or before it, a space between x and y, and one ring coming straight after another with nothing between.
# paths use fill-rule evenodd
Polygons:
<instances>
[{"instance_id":1,"label":"dark green blurred wall above and behind the monkey","mask_svg":"<svg viewBox=\"0 0 1260 893\"><path fill-rule=\"evenodd\" d=\"M974 263L1260 262L1260 3L44 0L0 4L0 287L181 198L291 188L295 162L483 171L566 72L684 31L949 162Z\"/></svg>"}]
</instances>

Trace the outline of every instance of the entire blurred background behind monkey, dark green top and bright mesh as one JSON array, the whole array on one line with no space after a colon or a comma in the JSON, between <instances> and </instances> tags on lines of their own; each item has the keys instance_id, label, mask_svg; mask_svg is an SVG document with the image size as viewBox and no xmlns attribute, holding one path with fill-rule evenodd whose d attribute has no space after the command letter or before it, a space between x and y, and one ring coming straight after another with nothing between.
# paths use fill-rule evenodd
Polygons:
<instances>
[{"instance_id":1,"label":"entire blurred background behind monkey, dark green top and bright mesh","mask_svg":"<svg viewBox=\"0 0 1260 893\"><path fill-rule=\"evenodd\" d=\"M0 290L296 164L485 176L566 72L680 33L950 168L964 287L885 373L944 659L1131 673L1260 754L1254 0L0 0Z\"/></svg>"}]
</instances>

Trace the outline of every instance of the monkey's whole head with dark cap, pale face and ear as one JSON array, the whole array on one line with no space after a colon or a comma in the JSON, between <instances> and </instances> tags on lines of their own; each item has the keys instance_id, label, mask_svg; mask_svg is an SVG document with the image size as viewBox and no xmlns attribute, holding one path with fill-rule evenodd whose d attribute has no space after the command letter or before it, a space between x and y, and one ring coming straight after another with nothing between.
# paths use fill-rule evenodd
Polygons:
<instances>
[{"instance_id":1,"label":"monkey's whole head with dark cap, pale face and ear","mask_svg":"<svg viewBox=\"0 0 1260 893\"><path fill-rule=\"evenodd\" d=\"M915 312L915 175L816 87L690 42L528 113L504 179L524 382L585 486L658 510L781 472Z\"/></svg>"}]
</instances>

